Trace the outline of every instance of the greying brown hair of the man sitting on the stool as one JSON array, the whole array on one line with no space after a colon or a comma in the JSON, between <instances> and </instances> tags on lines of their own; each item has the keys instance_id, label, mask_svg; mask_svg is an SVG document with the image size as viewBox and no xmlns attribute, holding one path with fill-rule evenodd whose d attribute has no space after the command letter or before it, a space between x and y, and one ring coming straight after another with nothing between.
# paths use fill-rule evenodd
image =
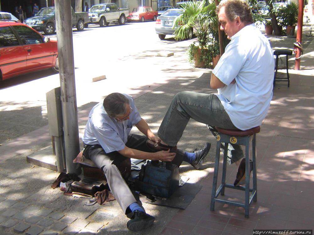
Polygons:
<instances>
[{"instance_id":1,"label":"greying brown hair of the man sitting on the stool","mask_svg":"<svg viewBox=\"0 0 314 235\"><path fill-rule=\"evenodd\" d=\"M253 18L251 8L244 0L223 0L216 8L218 14L222 7L225 7L225 13L230 21L234 21L236 17L240 17L240 20L245 24L253 24Z\"/></svg>"}]
</instances>

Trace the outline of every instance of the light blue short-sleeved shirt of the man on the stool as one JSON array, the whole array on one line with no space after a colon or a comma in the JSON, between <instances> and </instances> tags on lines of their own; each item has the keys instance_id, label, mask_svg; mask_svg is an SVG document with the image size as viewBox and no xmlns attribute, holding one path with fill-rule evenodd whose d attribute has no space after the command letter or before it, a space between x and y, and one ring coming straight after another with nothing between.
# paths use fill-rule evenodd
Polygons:
<instances>
[{"instance_id":1,"label":"light blue short-sleeved shirt of the man on the stool","mask_svg":"<svg viewBox=\"0 0 314 235\"><path fill-rule=\"evenodd\" d=\"M274 67L269 41L254 24L231 37L213 74L226 85L217 96L237 128L262 124L273 95Z\"/></svg>"}]
</instances>

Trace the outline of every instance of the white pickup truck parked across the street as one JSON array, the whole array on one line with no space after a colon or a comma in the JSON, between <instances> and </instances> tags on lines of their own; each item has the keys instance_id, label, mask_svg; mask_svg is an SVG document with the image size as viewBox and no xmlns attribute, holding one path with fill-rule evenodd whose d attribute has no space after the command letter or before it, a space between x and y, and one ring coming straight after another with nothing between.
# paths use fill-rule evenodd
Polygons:
<instances>
[{"instance_id":1,"label":"white pickup truck parked across the street","mask_svg":"<svg viewBox=\"0 0 314 235\"><path fill-rule=\"evenodd\" d=\"M125 24L125 18L129 16L127 8L120 9L116 3L101 3L89 9L89 24L99 24L104 27L109 23Z\"/></svg>"}]
</instances>

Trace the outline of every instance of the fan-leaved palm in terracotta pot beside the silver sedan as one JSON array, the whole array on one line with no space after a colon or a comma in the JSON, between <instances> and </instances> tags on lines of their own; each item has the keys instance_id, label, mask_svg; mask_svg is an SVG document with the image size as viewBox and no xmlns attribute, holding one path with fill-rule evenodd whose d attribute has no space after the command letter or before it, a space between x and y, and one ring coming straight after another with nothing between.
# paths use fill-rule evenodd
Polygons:
<instances>
[{"instance_id":1,"label":"fan-leaved palm in terracotta pot beside the silver sedan","mask_svg":"<svg viewBox=\"0 0 314 235\"><path fill-rule=\"evenodd\" d=\"M174 21L176 40L187 38L188 31L193 28L198 40L188 50L189 62L195 67L208 68L213 57L219 55L218 22L215 3L207 4L205 0L182 5L182 14ZM227 44L227 43L225 43Z\"/></svg>"}]
</instances>

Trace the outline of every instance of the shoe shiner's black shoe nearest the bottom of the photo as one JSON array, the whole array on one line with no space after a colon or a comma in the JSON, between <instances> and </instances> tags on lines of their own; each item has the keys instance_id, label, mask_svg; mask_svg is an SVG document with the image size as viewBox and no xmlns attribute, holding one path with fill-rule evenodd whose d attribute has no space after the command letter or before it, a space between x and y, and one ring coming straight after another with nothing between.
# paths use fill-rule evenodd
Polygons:
<instances>
[{"instance_id":1,"label":"shoe shiner's black shoe nearest the bottom of the photo","mask_svg":"<svg viewBox=\"0 0 314 235\"><path fill-rule=\"evenodd\" d=\"M127 222L127 228L133 232L141 231L153 225L155 217L143 211L134 211L132 219Z\"/></svg>"}]
</instances>

